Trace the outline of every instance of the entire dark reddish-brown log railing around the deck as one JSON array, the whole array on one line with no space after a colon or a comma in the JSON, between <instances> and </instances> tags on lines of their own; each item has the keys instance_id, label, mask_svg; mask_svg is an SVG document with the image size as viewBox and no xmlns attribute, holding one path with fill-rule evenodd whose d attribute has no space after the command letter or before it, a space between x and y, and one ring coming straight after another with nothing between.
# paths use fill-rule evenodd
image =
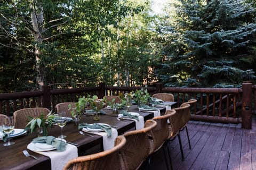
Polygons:
<instances>
[{"instance_id":1,"label":"entire dark reddish-brown log railing around the deck","mask_svg":"<svg viewBox=\"0 0 256 170\"><path fill-rule=\"evenodd\" d=\"M145 88L145 87L143 87ZM14 111L28 107L46 107L55 111L58 103L76 102L81 96L98 95L99 98L108 95L118 95L141 87L105 87L100 83L98 87L84 87L74 89L53 89L44 86L42 91L16 92L0 94L0 113L12 115ZM174 95L178 106L188 99L197 99L192 106L191 119L199 121L242 123L243 128L250 129L253 106L255 106L255 86L251 82L244 82L243 88L170 88L157 83L156 87L147 87L152 95L167 92ZM248 123L249 122L249 123Z\"/></svg>"}]
</instances>

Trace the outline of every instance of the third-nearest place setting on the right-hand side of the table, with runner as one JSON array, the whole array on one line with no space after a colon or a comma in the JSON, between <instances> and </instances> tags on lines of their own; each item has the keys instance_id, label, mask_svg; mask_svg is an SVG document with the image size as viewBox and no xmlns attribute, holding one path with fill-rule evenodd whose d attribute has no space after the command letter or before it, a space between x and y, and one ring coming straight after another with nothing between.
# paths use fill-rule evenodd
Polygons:
<instances>
[{"instance_id":1,"label":"third-nearest place setting on the right-hand side of the table, with runner","mask_svg":"<svg viewBox=\"0 0 256 170\"><path fill-rule=\"evenodd\" d=\"M127 111L121 111L118 114L118 118L120 119L127 119L127 120L133 120L135 121L135 128L136 130L143 129L144 128L144 117L140 116L139 113L136 112L127 112Z\"/></svg>"}]
</instances>

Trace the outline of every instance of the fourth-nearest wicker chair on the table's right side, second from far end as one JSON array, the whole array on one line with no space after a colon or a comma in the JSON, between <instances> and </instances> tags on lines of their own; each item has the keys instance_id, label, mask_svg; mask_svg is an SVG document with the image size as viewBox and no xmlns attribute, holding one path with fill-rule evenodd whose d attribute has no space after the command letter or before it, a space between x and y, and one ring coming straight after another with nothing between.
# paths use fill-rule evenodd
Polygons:
<instances>
[{"instance_id":1,"label":"fourth-nearest wicker chair on the table's right side, second from far end","mask_svg":"<svg viewBox=\"0 0 256 170\"><path fill-rule=\"evenodd\" d=\"M182 161L185 160L184 154L183 154L183 148L182 148L182 143L181 143L181 138L180 138L180 131L183 129L184 127L184 123L186 120L186 115L190 110L190 105L183 103L181 104L180 107L178 108L174 108L174 111L176 111L176 113L174 115L172 115L169 118L169 141L170 140L174 140L175 137L178 136L179 139L179 145L180 145L180 152L181 152L181 159ZM165 114L168 114L171 111L166 111ZM169 142L167 143L169 145Z\"/></svg>"}]
</instances>

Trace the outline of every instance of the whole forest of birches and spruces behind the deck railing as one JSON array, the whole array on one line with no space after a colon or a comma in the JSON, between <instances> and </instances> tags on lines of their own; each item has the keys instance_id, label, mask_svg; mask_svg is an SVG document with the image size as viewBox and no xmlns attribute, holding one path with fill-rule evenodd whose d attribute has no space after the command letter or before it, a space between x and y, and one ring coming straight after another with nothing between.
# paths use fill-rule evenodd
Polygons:
<instances>
[{"instance_id":1,"label":"whole forest of birches and spruces behind the deck railing","mask_svg":"<svg viewBox=\"0 0 256 170\"><path fill-rule=\"evenodd\" d=\"M254 0L0 1L0 93L255 80Z\"/></svg>"}]
</instances>

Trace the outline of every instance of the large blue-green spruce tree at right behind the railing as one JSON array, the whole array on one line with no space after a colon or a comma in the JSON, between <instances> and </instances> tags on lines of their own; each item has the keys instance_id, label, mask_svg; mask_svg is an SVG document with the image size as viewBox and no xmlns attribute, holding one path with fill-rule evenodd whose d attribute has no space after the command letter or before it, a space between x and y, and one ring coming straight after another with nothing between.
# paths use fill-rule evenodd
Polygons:
<instances>
[{"instance_id":1,"label":"large blue-green spruce tree at right behind the railing","mask_svg":"<svg viewBox=\"0 0 256 170\"><path fill-rule=\"evenodd\" d=\"M246 1L173 1L175 23L161 31L167 55L159 78L168 86L236 87L255 79L255 4ZM171 23L171 22L168 22Z\"/></svg>"}]
</instances>

